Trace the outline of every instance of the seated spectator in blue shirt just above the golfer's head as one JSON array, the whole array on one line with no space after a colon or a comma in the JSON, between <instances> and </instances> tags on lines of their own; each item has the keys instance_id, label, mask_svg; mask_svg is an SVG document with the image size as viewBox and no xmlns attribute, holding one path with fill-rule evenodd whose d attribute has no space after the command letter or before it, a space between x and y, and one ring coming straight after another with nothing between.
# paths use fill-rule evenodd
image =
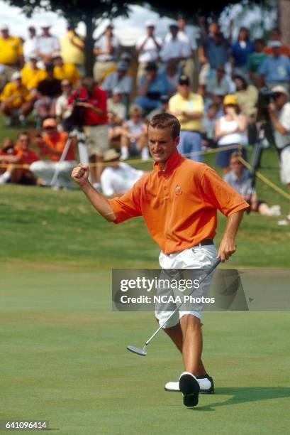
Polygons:
<instances>
[{"instance_id":1,"label":"seated spectator in blue shirt just above the golfer's head","mask_svg":"<svg viewBox=\"0 0 290 435\"><path fill-rule=\"evenodd\" d=\"M142 107L145 112L150 112L160 107L160 95L169 94L171 90L166 76L157 73L156 63L148 63L146 75L141 77L139 83L135 104Z\"/></svg>"}]
</instances>

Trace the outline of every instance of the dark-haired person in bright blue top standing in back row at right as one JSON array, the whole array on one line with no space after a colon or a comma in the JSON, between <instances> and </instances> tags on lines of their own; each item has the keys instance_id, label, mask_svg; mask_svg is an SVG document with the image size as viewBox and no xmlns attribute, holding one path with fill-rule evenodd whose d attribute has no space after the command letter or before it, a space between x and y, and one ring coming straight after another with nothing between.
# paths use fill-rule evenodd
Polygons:
<instances>
[{"instance_id":1,"label":"dark-haired person in bright blue top standing in back row at right","mask_svg":"<svg viewBox=\"0 0 290 435\"><path fill-rule=\"evenodd\" d=\"M254 44L250 41L250 34L246 27L241 27L238 41L232 44L232 73L245 75L247 73L247 58L254 51Z\"/></svg>"}]
</instances>

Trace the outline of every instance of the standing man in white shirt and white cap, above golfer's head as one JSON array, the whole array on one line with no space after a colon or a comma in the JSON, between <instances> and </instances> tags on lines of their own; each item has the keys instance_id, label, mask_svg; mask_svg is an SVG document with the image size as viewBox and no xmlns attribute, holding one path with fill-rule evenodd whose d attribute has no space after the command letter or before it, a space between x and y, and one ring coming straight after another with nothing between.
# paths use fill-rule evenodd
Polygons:
<instances>
[{"instance_id":1,"label":"standing man in white shirt and white cap, above golfer's head","mask_svg":"<svg viewBox=\"0 0 290 435\"><path fill-rule=\"evenodd\" d=\"M137 81L146 74L146 65L148 62L156 62L159 57L159 52L162 47L162 40L155 36L155 23L146 21L147 35L142 36L136 43L138 52L138 73Z\"/></svg>"}]
</instances>

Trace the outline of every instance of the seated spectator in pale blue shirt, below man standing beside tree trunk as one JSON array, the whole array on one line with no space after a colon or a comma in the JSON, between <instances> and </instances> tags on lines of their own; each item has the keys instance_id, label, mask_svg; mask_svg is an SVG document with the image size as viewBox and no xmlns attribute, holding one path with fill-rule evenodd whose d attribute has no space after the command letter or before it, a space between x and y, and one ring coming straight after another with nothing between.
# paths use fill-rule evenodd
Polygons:
<instances>
[{"instance_id":1,"label":"seated spectator in pale blue shirt, below man standing beside tree trunk","mask_svg":"<svg viewBox=\"0 0 290 435\"><path fill-rule=\"evenodd\" d=\"M128 64L126 62L119 62L117 70L114 73L106 75L101 85L101 89L106 91L108 97L112 96L115 87L118 87L118 90L121 91L123 103L127 106L133 87L133 79L128 75Z\"/></svg>"}]
</instances>

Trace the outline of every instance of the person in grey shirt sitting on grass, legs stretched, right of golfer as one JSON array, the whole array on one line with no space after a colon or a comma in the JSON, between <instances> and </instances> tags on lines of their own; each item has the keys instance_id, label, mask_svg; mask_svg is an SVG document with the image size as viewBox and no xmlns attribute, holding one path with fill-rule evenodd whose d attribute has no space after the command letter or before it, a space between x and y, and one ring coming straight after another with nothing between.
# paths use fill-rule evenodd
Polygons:
<instances>
[{"instance_id":1,"label":"person in grey shirt sitting on grass, legs stretched, right of golfer","mask_svg":"<svg viewBox=\"0 0 290 435\"><path fill-rule=\"evenodd\" d=\"M279 216L281 209L279 205L269 205L257 199L257 193L252 188L252 176L243 166L239 159L240 154L233 153L230 155L230 172L226 173L223 179L232 188L238 191L240 195L250 204L250 210L264 216Z\"/></svg>"}]
</instances>

